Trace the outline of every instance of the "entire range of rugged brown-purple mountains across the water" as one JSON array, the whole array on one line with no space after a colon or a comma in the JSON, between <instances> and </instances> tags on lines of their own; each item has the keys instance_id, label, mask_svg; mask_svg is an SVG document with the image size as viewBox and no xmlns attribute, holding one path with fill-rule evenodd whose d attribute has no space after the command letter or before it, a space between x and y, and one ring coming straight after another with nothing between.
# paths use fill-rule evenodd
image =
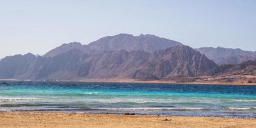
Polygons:
<instances>
[{"instance_id":1,"label":"entire range of rugged brown-purple mountains across the water","mask_svg":"<svg viewBox=\"0 0 256 128\"><path fill-rule=\"evenodd\" d=\"M228 73L250 74L250 70L255 71L255 63L248 60L253 60L254 54L220 47L193 49L154 35L119 34L100 38L88 45L78 42L63 44L44 56L31 53L7 56L0 61L0 79L161 80ZM221 61L222 58L232 56L232 60L242 55L248 59L241 57L236 61Z\"/></svg>"}]
</instances>

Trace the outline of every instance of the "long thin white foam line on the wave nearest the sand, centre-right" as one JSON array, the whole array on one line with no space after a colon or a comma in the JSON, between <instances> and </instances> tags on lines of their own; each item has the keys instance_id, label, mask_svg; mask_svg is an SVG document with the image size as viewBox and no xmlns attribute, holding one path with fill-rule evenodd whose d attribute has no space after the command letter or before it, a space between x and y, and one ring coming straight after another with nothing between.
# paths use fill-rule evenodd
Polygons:
<instances>
[{"instance_id":1,"label":"long thin white foam line on the wave nearest the sand, centre-right","mask_svg":"<svg viewBox=\"0 0 256 128\"><path fill-rule=\"evenodd\" d=\"M103 109L103 110L119 110L119 111L154 111L154 110L177 110L177 111L195 111L195 110L204 110L205 108L93 108L93 109Z\"/></svg>"}]
</instances>

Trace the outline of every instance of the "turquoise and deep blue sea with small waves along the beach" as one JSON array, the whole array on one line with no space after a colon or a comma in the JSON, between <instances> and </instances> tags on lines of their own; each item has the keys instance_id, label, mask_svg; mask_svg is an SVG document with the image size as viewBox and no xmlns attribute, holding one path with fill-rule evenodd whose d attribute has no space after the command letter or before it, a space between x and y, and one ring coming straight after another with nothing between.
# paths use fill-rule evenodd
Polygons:
<instances>
[{"instance_id":1,"label":"turquoise and deep blue sea with small waves along the beach","mask_svg":"<svg viewBox=\"0 0 256 128\"><path fill-rule=\"evenodd\" d=\"M256 117L256 86L0 81L0 110Z\"/></svg>"}]
</instances>

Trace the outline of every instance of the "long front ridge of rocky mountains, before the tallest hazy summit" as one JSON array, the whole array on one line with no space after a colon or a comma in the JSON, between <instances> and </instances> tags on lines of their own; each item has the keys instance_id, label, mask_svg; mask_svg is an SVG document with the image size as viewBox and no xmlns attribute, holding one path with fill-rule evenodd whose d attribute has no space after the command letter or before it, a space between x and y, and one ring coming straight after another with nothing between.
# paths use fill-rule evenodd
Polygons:
<instances>
[{"instance_id":1,"label":"long front ridge of rocky mountains, before the tallest hazy summit","mask_svg":"<svg viewBox=\"0 0 256 128\"><path fill-rule=\"evenodd\" d=\"M0 61L0 79L170 79L202 76L218 67L191 47L177 45L156 52L107 51L86 54L72 49L51 58L33 54Z\"/></svg>"}]
</instances>

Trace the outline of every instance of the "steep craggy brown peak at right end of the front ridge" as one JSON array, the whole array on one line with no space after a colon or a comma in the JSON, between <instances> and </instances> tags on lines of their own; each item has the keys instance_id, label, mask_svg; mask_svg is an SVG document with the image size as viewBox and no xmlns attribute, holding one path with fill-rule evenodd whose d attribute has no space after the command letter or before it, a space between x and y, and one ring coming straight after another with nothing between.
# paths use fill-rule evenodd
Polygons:
<instances>
[{"instance_id":1,"label":"steep craggy brown peak at right end of the front ridge","mask_svg":"<svg viewBox=\"0 0 256 128\"><path fill-rule=\"evenodd\" d=\"M194 77L210 75L205 73L216 67L218 65L204 54L183 45L152 53L147 63L141 65L133 77L139 79Z\"/></svg>"}]
</instances>

